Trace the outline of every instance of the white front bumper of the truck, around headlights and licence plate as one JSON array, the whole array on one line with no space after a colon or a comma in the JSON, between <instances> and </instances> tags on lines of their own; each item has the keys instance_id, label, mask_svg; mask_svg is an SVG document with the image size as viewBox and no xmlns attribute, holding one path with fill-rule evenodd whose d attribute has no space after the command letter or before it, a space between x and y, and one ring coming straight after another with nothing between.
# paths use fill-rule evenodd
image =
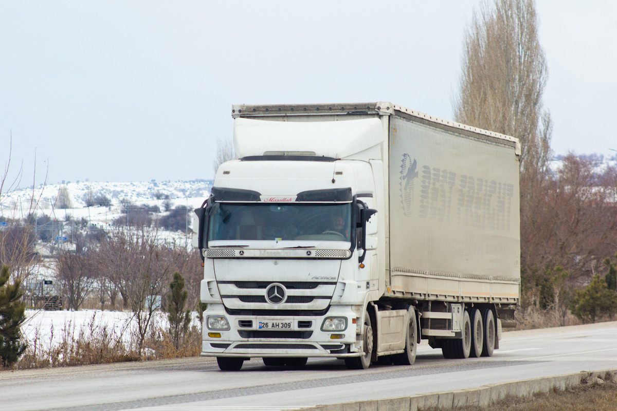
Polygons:
<instances>
[{"instance_id":1,"label":"white front bumper of the truck, around headlights and licence plate","mask_svg":"<svg viewBox=\"0 0 617 411\"><path fill-rule=\"evenodd\" d=\"M362 347L357 341L359 325L354 324L357 314L351 306L331 306L328 313L320 317L262 317L255 315L230 315L222 304L211 304L204 312L207 315L224 315L230 323L230 330L209 330L204 324L202 352L204 357L357 357ZM328 317L346 317L347 328L343 331L321 331L323 320ZM263 319L292 322L289 331L259 330ZM248 326L249 322L251 326ZM310 327L306 327L310 322ZM302 327L299 327L302 325ZM220 338L209 333L220 333ZM273 336L270 338L271 333ZM301 338L293 338L301 335ZM332 338L334 336L342 338ZM289 338L291 336L291 338Z\"/></svg>"}]
</instances>

